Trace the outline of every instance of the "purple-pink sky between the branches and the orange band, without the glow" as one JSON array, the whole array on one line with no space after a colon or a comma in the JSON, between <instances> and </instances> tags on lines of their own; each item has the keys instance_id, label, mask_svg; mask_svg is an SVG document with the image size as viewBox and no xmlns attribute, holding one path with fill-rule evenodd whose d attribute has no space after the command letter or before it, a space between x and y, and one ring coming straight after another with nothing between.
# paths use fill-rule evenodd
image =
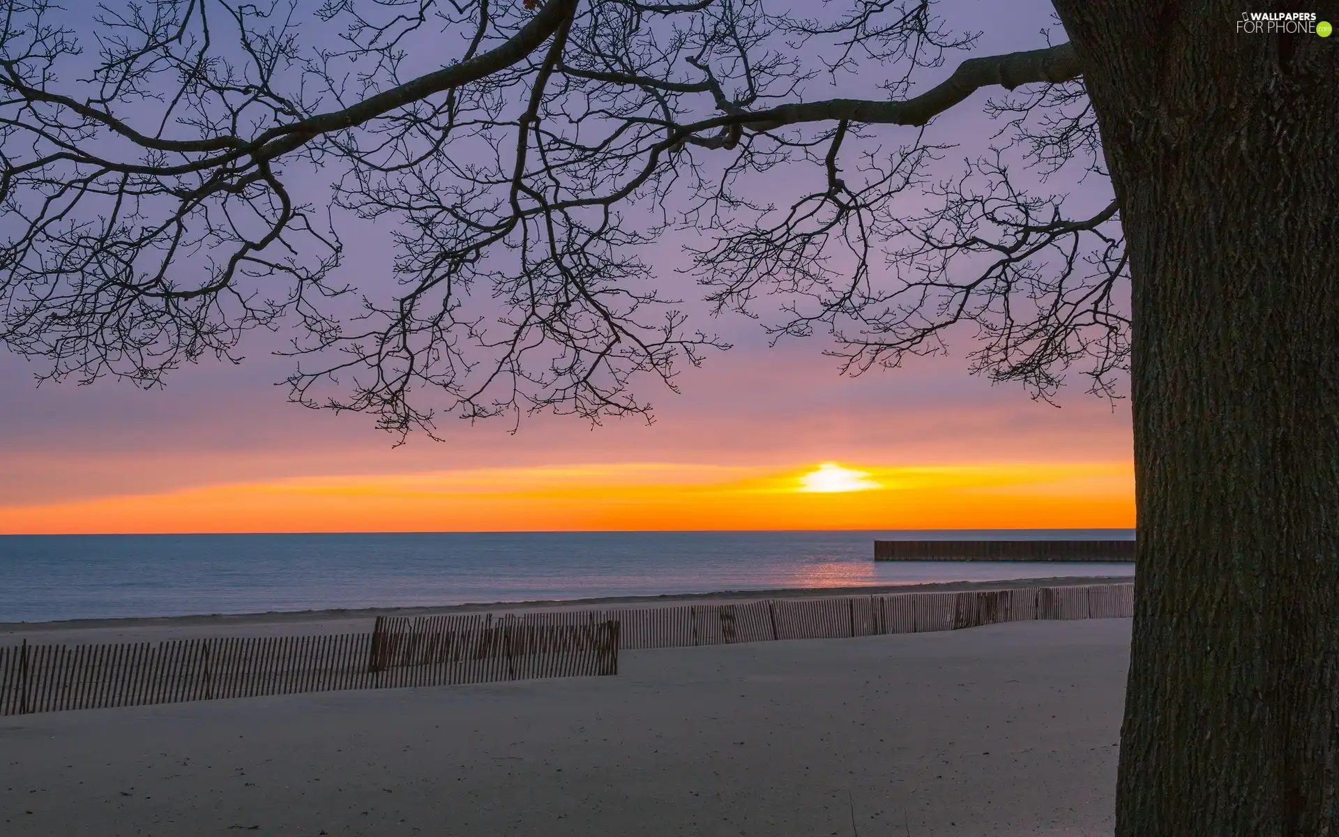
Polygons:
<instances>
[{"instance_id":1,"label":"purple-pink sky between the branches and the orange band, without the glow","mask_svg":"<svg viewBox=\"0 0 1339 837\"><path fill-rule=\"evenodd\" d=\"M71 9L82 5L72 3ZM973 55L1042 47L1039 29L1052 25L1050 5L1034 0L945 0L941 12L957 27L984 31ZM1058 28L1054 32L1054 40L1063 40ZM948 75L956 60L923 78ZM868 91L838 88L830 95ZM943 174L956 174L963 157L983 147L991 129L980 117L984 98L973 96L936 123L937 139L963 143L941 161ZM880 129L889 143L905 130ZM1085 189L1090 202L1105 202L1106 183ZM344 276L384 276L392 257L386 237L366 228L347 232L355 230L356 256ZM672 267L680 244L661 242L649 260ZM663 273L675 293L700 296L683 277ZM414 438L395 450L364 416L288 404L287 390L273 384L291 360L268 356L264 337L244 344L248 359L241 367L206 362L175 372L166 390L151 392L114 380L35 388L36 367L0 354L0 508L321 474L554 463L790 467L819 461L898 466L1130 458L1126 402L1113 411L1085 395L1075 379L1058 410L1032 402L1020 387L971 378L963 362L969 331L956 335L953 358L852 380L840 378L837 362L821 355L829 346L823 337L767 350L758 324L742 317L702 327L735 340L735 348L710 355L702 370L686 368L679 379L683 395L645 384L640 394L656 406L651 427L629 419L592 430L581 419L541 416L522 421L520 433L509 435L505 421L445 423L446 443Z\"/></svg>"}]
</instances>

